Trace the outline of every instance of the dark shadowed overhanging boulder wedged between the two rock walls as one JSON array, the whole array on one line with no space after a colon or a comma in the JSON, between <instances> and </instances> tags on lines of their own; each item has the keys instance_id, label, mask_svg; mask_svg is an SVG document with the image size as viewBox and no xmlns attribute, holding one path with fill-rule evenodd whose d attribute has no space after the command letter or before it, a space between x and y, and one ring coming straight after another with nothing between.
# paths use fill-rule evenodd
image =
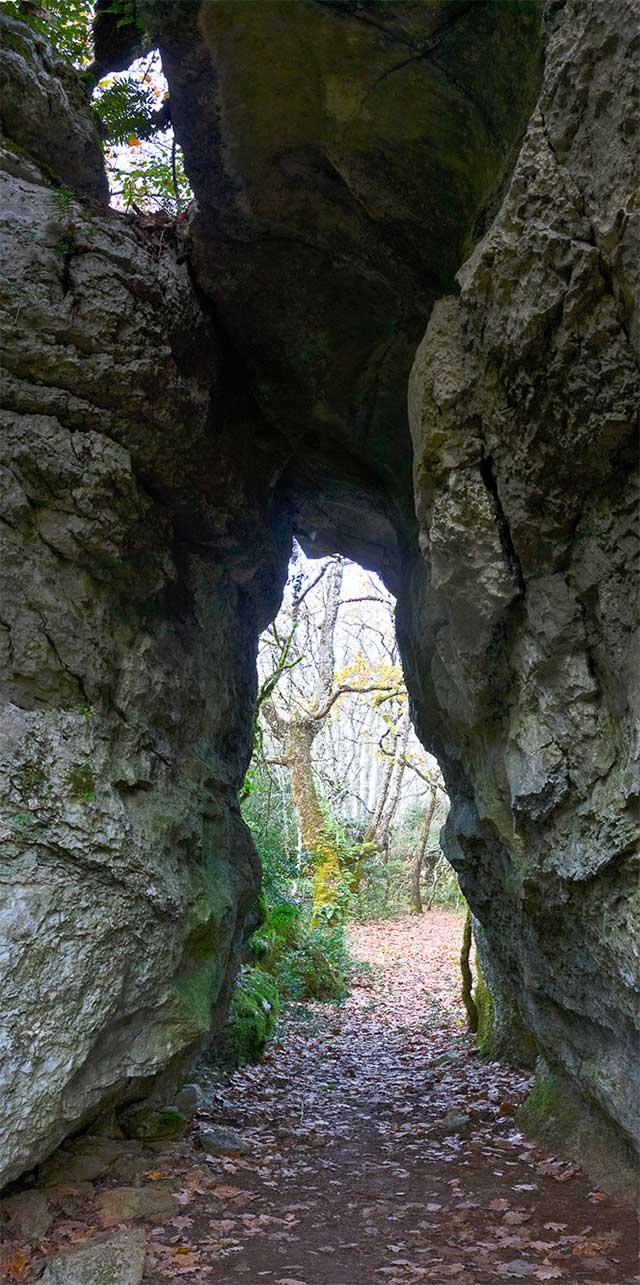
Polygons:
<instances>
[{"instance_id":1,"label":"dark shadowed overhanging boulder wedged between the two rock walls","mask_svg":"<svg viewBox=\"0 0 640 1285\"><path fill-rule=\"evenodd\" d=\"M283 439L274 464L305 499L344 477L378 492L396 533L369 560L388 563L414 527L409 370L533 107L538 6L147 12L198 197L191 269ZM366 536L347 508L329 526Z\"/></svg>"}]
</instances>

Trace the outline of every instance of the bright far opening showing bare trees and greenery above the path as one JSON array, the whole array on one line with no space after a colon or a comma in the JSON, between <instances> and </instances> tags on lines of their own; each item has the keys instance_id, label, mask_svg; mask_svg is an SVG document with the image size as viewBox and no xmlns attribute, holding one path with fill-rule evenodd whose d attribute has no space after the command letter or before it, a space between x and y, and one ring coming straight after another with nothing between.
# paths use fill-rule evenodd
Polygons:
<instances>
[{"instance_id":1,"label":"bright far opening showing bare trees and greenery above the path","mask_svg":"<svg viewBox=\"0 0 640 1285\"><path fill-rule=\"evenodd\" d=\"M374 572L294 541L258 645L240 798L270 898L306 898L314 925L461 900L438 839L449 797L411 725L395 616Z\"/></svg>"}]
</instances>

